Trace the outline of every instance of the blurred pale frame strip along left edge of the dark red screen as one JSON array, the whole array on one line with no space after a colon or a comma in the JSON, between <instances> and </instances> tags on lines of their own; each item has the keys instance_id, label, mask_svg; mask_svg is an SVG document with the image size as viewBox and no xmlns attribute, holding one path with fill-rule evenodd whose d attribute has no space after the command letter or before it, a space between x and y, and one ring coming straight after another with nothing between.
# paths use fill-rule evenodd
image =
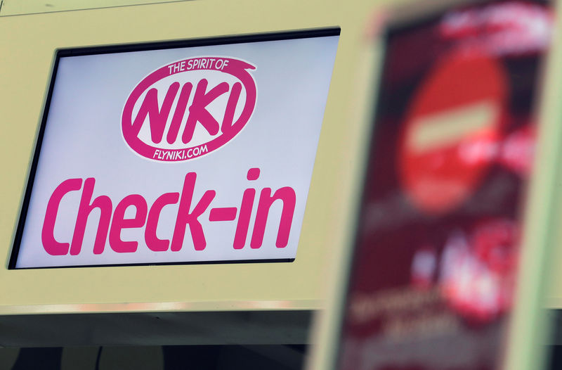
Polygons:
<instances>
[{"instance_id":1,"label":"blurred pale frame strip along left edge of the dark red screen","mask_svg":"<svg viewBox=\"0 0 562 370\"><path fill-rule=\"evenodd\" d=\"M381 42L381 27L384 26L386 12L380 6L372 8L370 16L367 16L367 27L362 34L355 34L358 42L358 58L355 60L356 67L351 78L357 86L357 94L350 101L348 117L355 125L360 126L360 142L357 143L358 157L355 158L353 167L358 169L352 183L352 193L356 196L353 203L348 205L348 217L346 225L342 228L343 235L339 238L341 248L334 248L331 258L327 263L327 299L326 309L318 311L313 319L311 328L311 343L313 349L306 358L305 369L329 370L334 368L338 354L339 335L341 329L341 317L344 315L344 297L346 295L348 274L350 274L351 260L353 258L353 242L355 240L355 225L358 222L358 207L362 191L361 173L368 159L368 146L372 127L370 120L374 115L376 107L372 104L377 100L381 61L384 56L384 44ZM361 27L358 27L359 29Z\"/></svg>"}]
</instances>

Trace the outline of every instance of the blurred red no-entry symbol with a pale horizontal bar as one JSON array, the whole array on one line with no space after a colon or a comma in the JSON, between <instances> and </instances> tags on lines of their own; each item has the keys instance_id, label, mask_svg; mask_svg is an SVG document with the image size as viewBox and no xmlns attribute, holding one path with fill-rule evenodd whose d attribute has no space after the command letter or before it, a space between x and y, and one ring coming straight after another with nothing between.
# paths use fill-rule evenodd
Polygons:
<instances>
[{"instance_id":1,"label":"blurred red no-entry symbol with a pale horizontal bar","mask_svg":"<svg viewBox=\"0 0 562 370\"><path fill-rule=\"evenodd\" d=\"M414 94L400 137L398 172L424 212L452 210L474 191L499 151L507 79L474 51L445 56Z\"/></svg>"}]
</instances>

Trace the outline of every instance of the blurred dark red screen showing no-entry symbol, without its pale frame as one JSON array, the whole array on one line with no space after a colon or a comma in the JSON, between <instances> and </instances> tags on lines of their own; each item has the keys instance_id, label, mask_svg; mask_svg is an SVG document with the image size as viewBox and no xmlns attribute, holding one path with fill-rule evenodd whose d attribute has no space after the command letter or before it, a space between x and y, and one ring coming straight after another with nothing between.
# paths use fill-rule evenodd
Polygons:
<instances>
[{"instance_id":1,"label":"blurred dark red screen showing no-entry symbol, without its pale frame","mask_svg":"<svg viewBox=\"0 0 562 370\"><path fill-rule=\"evenodd\" d=\"M386 30L336 369L501 366L551 14L494 1Z\"/></svg>"}]
</instances>

